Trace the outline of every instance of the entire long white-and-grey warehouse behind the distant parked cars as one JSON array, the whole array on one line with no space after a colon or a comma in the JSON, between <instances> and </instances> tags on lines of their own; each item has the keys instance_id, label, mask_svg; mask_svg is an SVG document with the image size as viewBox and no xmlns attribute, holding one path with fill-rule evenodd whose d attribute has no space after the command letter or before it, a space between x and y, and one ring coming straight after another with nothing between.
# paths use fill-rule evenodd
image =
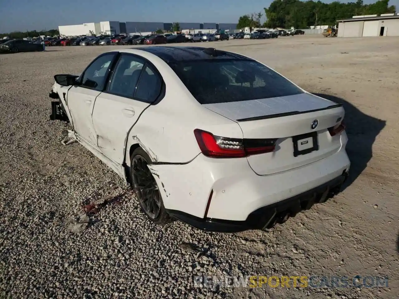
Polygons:
<instances>
[{"instance_id":1,"label":"entire long white-and-grey warehouse behind the distant parked cars","mask_svg":"<svg viewBox=\"0 0 399 299\"><path fill-rule=\"evenodd\" d=\"M180 29L215 29L215 30L235 30L237 24L233 23L179 23ZM79 25L58 26L59 34L63 36L77 35L100 35L100 34L120 34L136 32L154 32L157 30L171 31L173 23L163 22L117 22L105 21L98 23L84 23Z\"/></svg>"}]
</instances>

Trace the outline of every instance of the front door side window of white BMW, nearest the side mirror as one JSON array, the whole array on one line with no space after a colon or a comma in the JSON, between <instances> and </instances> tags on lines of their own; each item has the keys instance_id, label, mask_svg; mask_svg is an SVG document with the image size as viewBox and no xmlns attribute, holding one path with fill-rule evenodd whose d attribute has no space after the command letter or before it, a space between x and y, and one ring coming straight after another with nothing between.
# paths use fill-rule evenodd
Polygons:
<instances>
[{"instance_id":1,"label":"front door side window of white BMW, nearest the side mirror","mask_svg":"<svg viewBox=\"0 0 399 299\"><path fill-rule=\"evenodd\" d=\"M115 54L103 55L97 58L83 73L82 85L90 89L101 91L109 73L109 66Z\"/></svg>"}]
</instances>

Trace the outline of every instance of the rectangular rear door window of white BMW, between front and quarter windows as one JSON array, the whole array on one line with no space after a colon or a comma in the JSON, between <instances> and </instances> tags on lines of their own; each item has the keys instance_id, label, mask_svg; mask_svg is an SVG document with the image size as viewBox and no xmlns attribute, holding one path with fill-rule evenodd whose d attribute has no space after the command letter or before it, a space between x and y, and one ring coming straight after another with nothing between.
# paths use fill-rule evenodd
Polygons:
<instances>
[{"instance_id":1,"label":"rectangular rear door window of white BMW, between front and quarter windows","mask_svg":"<svg viewBox=\"0 0 399 299\"><path fill-rule=\"evenodd\" d=\"M133 97L144 61L131 55L122 55L115 67L108 92Z\"/></svg>"}]
</instances>

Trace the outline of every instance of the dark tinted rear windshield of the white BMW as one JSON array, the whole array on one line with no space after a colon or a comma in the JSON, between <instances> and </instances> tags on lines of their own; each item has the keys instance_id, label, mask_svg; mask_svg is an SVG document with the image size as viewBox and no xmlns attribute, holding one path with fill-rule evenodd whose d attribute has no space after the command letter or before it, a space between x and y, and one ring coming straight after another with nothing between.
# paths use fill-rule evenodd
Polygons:
<instances>
[{"instance_id":1,"label":"dark tinted rear windshield of the white BMW","mask_svg":"<svg viewBox=\"0 0 399 299\"><path fill-rule=\"evenodd\" d=\"M265 65L243 59L209 59L170 63L201 104L275 98L303 93Z\"/></svg>"}]
</instances>

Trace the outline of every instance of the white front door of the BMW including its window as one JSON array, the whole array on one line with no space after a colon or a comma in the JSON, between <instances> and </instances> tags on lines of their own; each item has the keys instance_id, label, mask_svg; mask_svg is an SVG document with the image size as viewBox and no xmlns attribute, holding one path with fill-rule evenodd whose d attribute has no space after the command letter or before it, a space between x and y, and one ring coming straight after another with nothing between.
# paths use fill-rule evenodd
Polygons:
<instances>
[{"instance_id":1,"label":"white front door of the BMW including its window","mask_svg":"<svg viewBox=\"0 0 399 299\"><path fill-rule=\"evenodd\" d=\"M106 85L117 53L105 53L97 57L67 93L67 107L71 114L75 132L84 142L97 149L97 134L94 130L92 113L97 96Z\"/></svg>"}]
</instances>

